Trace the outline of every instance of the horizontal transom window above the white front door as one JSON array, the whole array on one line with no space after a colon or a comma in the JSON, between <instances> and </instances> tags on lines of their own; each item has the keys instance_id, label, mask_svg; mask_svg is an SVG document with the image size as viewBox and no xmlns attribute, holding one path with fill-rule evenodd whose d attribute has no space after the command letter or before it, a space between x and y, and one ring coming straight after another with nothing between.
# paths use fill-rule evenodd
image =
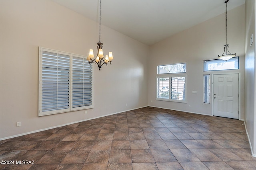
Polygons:
<instances>
[{"instance_id":1,"label":"horizontal transom window above the white front door","mask_svg":"<svg viewBox=\"0 0 256 170\"><path fill-rule=\"evenodd\" d=\"M204 61L204 71L239 69L239 57L227 61L222 59Z\"/></svg>"}]
</instances>

